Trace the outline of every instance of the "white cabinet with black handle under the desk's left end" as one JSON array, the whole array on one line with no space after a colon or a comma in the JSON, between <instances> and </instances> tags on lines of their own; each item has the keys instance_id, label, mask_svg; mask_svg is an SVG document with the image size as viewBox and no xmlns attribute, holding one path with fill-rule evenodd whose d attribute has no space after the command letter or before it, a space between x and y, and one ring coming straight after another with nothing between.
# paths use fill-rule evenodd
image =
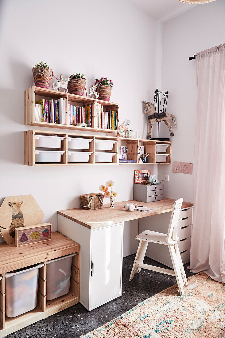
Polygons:
<instances>
[{"instance_id":1,"label":"white cabinet with black handle under the desk's left end","mask_svg":"<svg viewBox=\"0 0 225 338\"><path fill-rule=\"evenodd\" d=\"M80 244L80 303L90 311L121 296L123 223L90 230L58 215L58 231Z\"/></svg>"}]
</instances>

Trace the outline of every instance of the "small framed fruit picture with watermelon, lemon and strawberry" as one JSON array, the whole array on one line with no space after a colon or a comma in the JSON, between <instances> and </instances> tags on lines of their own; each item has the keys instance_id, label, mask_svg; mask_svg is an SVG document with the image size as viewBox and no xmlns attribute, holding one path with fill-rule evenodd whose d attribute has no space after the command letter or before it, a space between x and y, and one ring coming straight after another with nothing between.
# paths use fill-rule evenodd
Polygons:
<instances>
[{"instance_id":1,"label":"small framed fruit picture with watermelon, lemon and strawberry","mask_svg":"<svg viewBox=\"0 0 225 338\"><path fill-rule=\"evenodd\" d=\"M52 225L50 223L23 226L15 229L16 246L49 241L51 238Z\"/></svg>"}]
</instances>

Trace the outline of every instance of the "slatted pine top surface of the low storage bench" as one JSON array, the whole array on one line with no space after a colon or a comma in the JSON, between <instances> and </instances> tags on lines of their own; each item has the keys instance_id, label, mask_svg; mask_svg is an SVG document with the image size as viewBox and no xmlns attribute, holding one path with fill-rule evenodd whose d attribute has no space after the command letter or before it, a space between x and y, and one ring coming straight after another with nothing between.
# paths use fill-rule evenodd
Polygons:
<instances>
[{"instance_id":1,"label":"slatted pine top surface of the low storage bench","mask_svg":"<svg viewBox=\"0 0 225 338\"><path fill-rule=\"evenodd\" d=\"M50 241L16 247L15 243L0 244L0 274L25 266L42 263L79 251L80 244L58 233Z\"/></svg>"}]
</instances>

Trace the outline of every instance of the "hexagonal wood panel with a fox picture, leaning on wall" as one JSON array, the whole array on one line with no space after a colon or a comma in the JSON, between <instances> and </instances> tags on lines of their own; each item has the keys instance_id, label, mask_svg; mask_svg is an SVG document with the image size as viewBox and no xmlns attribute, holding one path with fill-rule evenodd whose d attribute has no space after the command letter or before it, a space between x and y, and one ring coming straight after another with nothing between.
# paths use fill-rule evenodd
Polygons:
<instances>
[{"instance_id":1,"label":"hexagonal wood panel with a fox picture, leaning on wall","mask_svg":"<svg viewBox=\"0 0 225 338\"><path fill-rule=\"evenodd\" d=\"M41 224L44 213L32 195L5 197L0 207L0 235L15 243L15 228Z\"/></svg>"}]
</instances>

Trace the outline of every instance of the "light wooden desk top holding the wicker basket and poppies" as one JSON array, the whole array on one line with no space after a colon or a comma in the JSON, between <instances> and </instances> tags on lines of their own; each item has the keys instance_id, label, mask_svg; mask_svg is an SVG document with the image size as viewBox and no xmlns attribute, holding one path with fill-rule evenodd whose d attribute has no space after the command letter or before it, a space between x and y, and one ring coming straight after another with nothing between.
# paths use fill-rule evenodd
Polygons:
<instances>
[{"instance_id":1,"label":"light wooden desk top holding the wicker basket and poppies","mask_svg":"<svg viewBox=\"0 0 225 338\"><path fill-rule=\"evenodd\" d=\"M82 208L60 210L58 211L58 215L69 218L70 220L77 222L78 224L81 224L89 229L96 229L106 225L126 222L132 219L138 219L172 211L174 201L175 199L170 198L164 198L161 201L155 201L151 203L131 200L114 203L114 209L110 209L109 204L106 204L102 207L102 209L97 210L85 210ZM126 211L124 209L125 203L133 203L138 204L138 206L152 208L153 211ZM193 207L193 203L183 202L182 209L190 207Z\"/></svg>"}]
</instances>

